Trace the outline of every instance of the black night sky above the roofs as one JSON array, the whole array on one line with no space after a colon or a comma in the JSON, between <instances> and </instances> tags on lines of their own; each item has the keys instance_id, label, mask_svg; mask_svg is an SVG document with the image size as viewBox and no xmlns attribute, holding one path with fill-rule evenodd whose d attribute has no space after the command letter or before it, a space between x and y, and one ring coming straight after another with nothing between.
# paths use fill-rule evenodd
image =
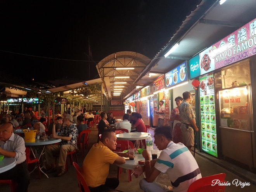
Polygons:
<instances>
[{"instance_id":1,"label":"black night sky above the roofs","mask_svg":"<svg viewBox=\"0 0 256 192\"><path fill-rule=\"evenodd\" d=\"M114 52L154 58L199 2L0 0L1 70L28 81L99 78L95 65Z\"/></svg>"}]
</instances>

